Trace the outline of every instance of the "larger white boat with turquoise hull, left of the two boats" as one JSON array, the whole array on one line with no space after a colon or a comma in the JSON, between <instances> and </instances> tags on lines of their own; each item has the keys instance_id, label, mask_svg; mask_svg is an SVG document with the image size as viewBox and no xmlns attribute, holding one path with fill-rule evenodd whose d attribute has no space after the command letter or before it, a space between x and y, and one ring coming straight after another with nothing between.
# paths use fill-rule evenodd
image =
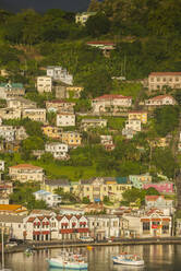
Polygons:
<instances>
[{"instance_id":1,"label":"larger white boat with turquoise hull, left of the two boats","mask_svg":"<svg viewBox=\"0 0 181 271\"><path fill-rule=\"evenodd\" d=\"M50 268L68 269L68 270L87 270L88 263L76 255L60 255L47 260Z\"/></svg>"}]
</instances>

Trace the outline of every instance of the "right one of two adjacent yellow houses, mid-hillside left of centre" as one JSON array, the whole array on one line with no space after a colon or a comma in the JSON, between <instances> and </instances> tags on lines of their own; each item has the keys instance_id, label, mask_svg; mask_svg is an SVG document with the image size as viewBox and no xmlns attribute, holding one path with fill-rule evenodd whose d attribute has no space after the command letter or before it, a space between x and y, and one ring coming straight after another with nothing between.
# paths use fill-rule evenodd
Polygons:
<instances>
[{"instance_id":1,"label":"right one of two adjacent yellow houses, mid-hillside left of centre","mask_svg":"<svg viewBox=\"0 0 181 271\"><path fill-rule=\"evenodd\" d=\"M64 131L60 133L60 137L61 137L62 143L65 143L72 146L81 145L82 136L80 132Z\"/></svg>"}]
</instances>

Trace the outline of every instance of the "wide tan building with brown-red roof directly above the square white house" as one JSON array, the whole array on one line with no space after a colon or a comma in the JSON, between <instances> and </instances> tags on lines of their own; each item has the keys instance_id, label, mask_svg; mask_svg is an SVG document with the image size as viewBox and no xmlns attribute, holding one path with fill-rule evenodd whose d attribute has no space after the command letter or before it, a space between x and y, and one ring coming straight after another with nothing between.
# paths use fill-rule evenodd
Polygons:
<instances>
[{"instance_id":1,"label":"wide tan building with brown-red roof directly above the square white house","mask_svg":"<svg viewBox=\"0 0 181 271\"><path fill-rule=\"evenodd\" d=\"M74 106L75 106L75 103L65 102L63 99L46 102L47 111L74 113Z\"/></svg>"}]
</instances>

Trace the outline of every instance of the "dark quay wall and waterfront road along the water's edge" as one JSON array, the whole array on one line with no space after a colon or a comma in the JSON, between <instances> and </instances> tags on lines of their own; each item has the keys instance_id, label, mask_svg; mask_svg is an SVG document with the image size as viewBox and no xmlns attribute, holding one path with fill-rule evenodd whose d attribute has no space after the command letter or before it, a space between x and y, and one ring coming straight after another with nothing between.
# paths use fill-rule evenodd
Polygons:
<instances>
[{"instance_id":1,"label":"dark quay wall and waterfront road along the water's edge","mask_svg":"<svg viewBox=\"0 0 181 271\"><path fill-rule=\"evenodd\" d=\"M105 246L131 246L131 245L181 245L181 237L169 238L143 238L143 239L122 239L119 241L97 241L97 243L69 243L60 244L60 241L47 241L47 243L27 243L26 245L20 245L12 248L5 248L5 254L23 252L27 247L32 247L34 250L56 249L56 248L70 248L70 247L105 247ZM1 252L1 251L0 251Z\"/></svg>"}]
</instances>

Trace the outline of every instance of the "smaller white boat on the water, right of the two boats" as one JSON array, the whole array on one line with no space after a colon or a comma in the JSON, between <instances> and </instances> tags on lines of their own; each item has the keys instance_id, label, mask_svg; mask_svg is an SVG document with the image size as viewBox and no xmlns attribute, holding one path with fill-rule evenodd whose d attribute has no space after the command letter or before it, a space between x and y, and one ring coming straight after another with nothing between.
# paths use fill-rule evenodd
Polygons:
<instances>
[{"instance_id":1,"label":"smaller white boat on the water, right of the two boats","mask_svg":"<svg viewBox=\"0 0 181 271\"><path fill-rule=\"evenodd\" d=\"M134 267L143 267L144 260L141 259L137 255L128 255L120 254L118 256L112 257L114 264L123 264L123 266L134 266Z\"/></svg>"}]
</instances>

